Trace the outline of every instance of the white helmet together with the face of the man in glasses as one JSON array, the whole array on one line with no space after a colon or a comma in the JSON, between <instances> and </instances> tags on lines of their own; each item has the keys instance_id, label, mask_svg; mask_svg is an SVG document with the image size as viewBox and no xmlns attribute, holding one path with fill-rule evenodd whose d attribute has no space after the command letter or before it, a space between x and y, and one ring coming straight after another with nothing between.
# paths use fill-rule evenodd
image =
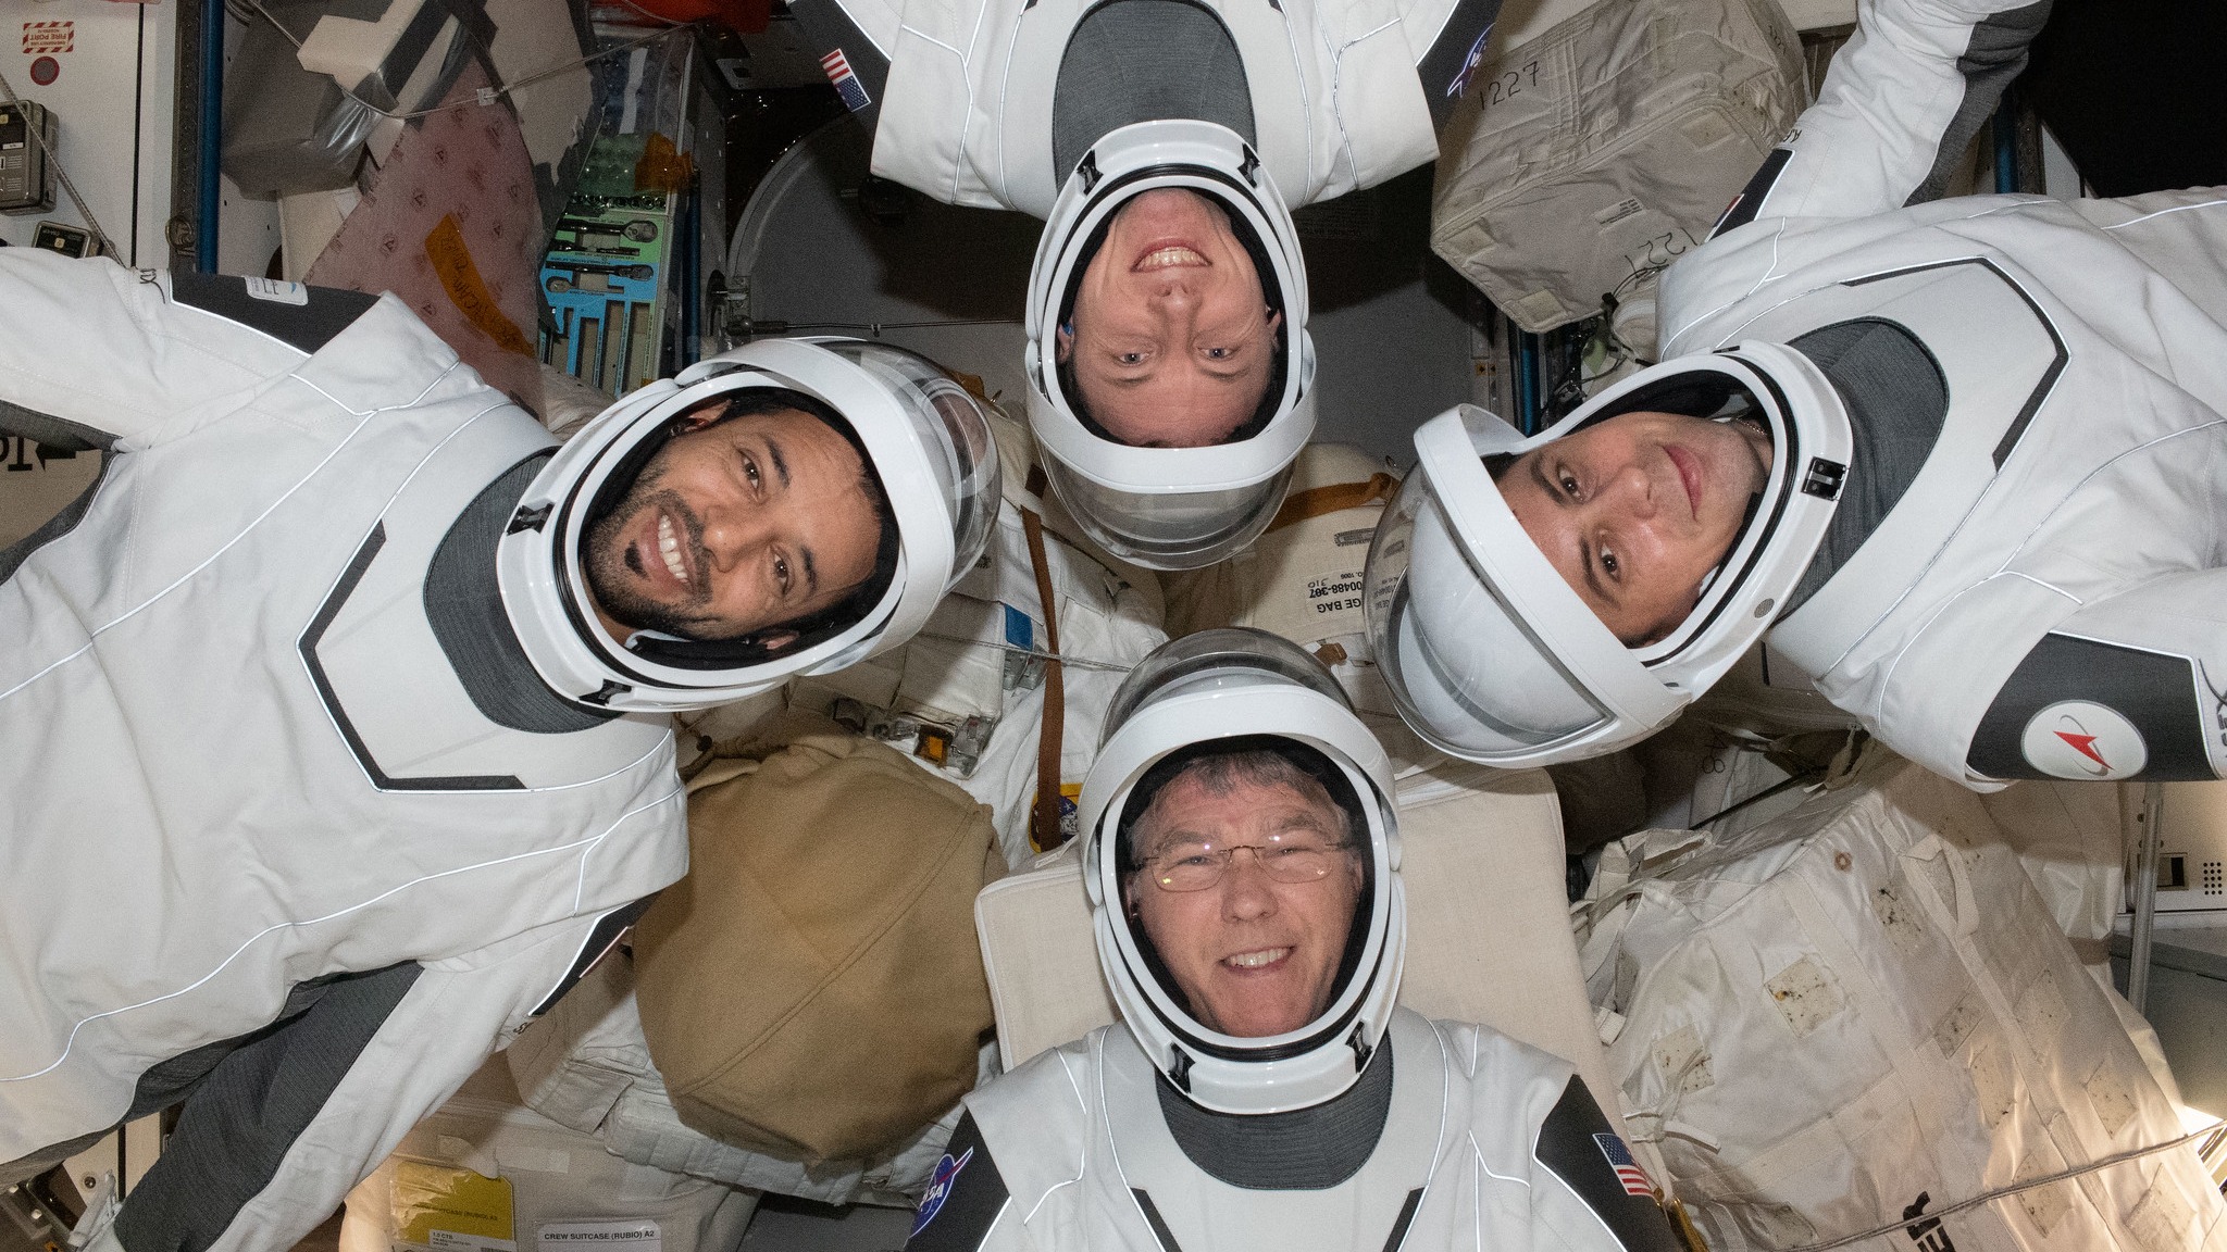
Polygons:
<instances>
[{"instance_id":1,"label":"white helmet together with the face of the man in glasses","mask_svg":"<svg viewBox=\"0 0 2227 1252\"><path fill-rule=\"evenodd\" d=\"M1138 1043L1189 1074L1176 1080L1194 1101L1318 1103L1352 1083L1356 1040L1365 1056L1381 1038L1405 927L1390 786L1330 671L1263 630L1162 644L1114 695L1082 793L1100 962ZM1278 820L1254 820L1263 806ZM1292 911L1276 969L1220 969L1227 891Z\"/></svg>"}]
</instances>

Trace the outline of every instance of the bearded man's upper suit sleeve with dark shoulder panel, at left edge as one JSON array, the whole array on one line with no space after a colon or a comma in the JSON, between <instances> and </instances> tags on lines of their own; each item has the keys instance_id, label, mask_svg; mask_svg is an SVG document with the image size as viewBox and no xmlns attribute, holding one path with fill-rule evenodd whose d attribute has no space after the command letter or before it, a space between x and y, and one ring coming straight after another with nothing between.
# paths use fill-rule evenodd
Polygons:
<instances>
[{"instance_id":1,"label":"bearded man's upper suit sleeve with dark shoulder panel, at left edge","mask_svg":"<svg viewBox=\"0 0 2227 1252\"><path fill-rule=\"evenodd\" d=\"M0 252L0 430L69 450L163 443L236 412L256 390L292 372L312 348L187 303L223 296L303 323L327 310L354 316L372 299L292 283L125 270L33 247ZM256 292L256 294L252 294ZM352 310L352 312L347 312Z\"/></svg>"}]
</instances>

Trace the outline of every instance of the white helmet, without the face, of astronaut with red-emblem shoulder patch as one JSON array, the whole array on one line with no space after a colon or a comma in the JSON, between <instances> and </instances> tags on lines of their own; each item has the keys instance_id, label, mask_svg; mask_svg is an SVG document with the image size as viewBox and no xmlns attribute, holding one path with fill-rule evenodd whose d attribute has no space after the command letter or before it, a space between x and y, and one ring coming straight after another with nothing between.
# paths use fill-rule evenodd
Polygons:
<instances>
[{"instance_id":1,"label":"white helmet, without the face, of astronaut with red-emblem shoulder patch","mask_svg":"<svg viewBox=\"0 0 2227 1252\"><path fill-rule=\"evenodd\" d=\"M1621 642L1595 615L1488 468L1632 412L1755 421L1773 450L1693 608L1646 644ZM1851 428L1806 356L1742 343L1641 370L1532 437L1461 405L1423 423L1414 450L1370 544L1370 646L1416 735L1514 769L1644 740L1770 630L1833 519Z\"/></svg>"}]
</instances>

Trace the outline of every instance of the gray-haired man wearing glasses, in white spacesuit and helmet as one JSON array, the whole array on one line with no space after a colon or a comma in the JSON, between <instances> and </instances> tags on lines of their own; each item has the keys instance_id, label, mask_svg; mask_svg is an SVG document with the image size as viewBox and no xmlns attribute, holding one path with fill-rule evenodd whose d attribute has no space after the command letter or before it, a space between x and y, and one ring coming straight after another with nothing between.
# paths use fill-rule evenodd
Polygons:
<instances>
[{"instance_id":1,"label":"gray-haired man wearing glasses, in white spacesuit and helmet","mask_svg":"<svg viewBox=\"0 0 2227 1252\"><path fill-rule=\"evenodd\" d=\"M1122 1023L967 1096L906 1248L1675 1248L1568 1063L1394 1007L1390 766L1296 644L1156 648L1082 818Z\"/></svg>"}]
</instances>

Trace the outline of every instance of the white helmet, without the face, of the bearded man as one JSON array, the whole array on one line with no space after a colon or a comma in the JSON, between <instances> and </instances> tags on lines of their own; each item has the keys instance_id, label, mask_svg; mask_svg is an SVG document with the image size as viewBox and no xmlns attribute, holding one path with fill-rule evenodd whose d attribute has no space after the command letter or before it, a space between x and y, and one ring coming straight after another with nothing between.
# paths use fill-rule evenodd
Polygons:
<instances>
[{"instance_id":1,"label":"white helmet, without the face, of the bearded man","mask_svg":"<svg viewBox=\"0 0 2227 1252\"><path fill-rule=\"evenodd\" d=\"M686 414L719 399L782 403L844 437L880 510L875 570L831 608L762 633L615 637L597 615L588 537L644 466L690 428ZM526 657L559 695L621 711L710 708L911 639L982 557L995 510L989 419L933 361L855 339L762 339L639 388L588 421L519 499L497 575Z\"/></svg>"}]
</instances>

